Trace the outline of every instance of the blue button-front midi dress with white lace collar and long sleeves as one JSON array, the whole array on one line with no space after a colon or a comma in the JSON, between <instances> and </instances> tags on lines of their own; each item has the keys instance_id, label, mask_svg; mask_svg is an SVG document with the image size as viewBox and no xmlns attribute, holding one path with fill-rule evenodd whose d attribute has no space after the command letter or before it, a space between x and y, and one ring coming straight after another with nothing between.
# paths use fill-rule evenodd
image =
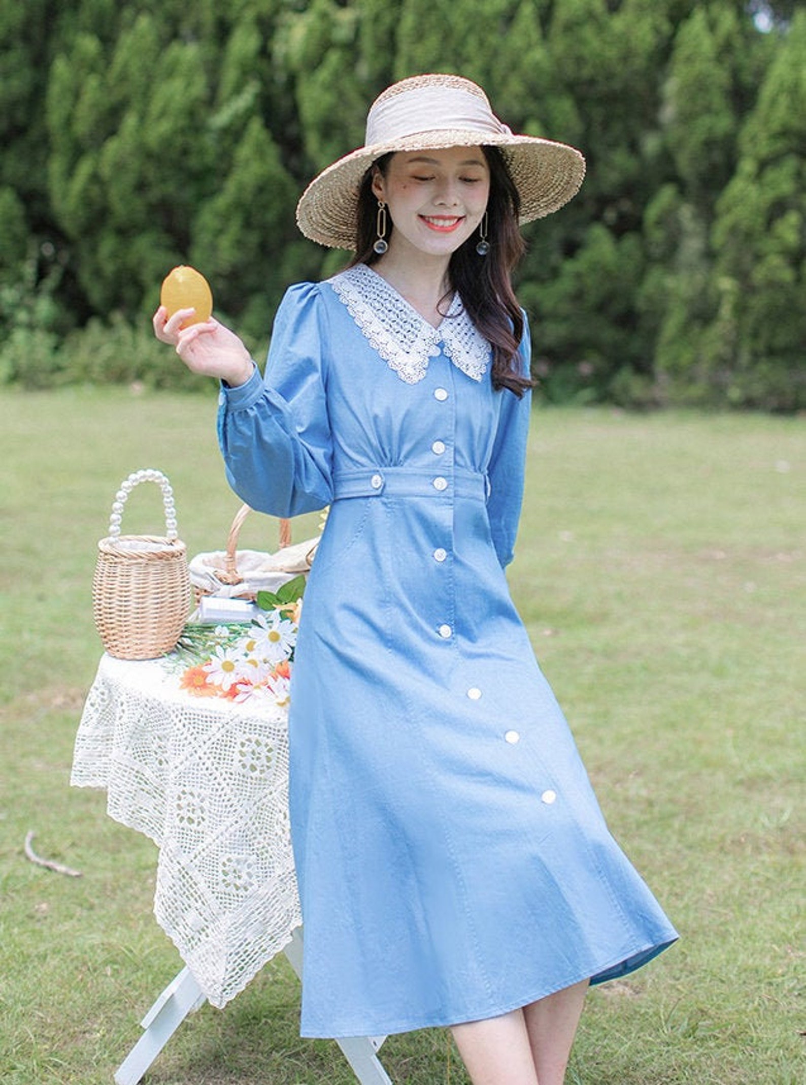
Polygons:
<instances>
[{"instance_id":1,"label":"blue button-front midi dress with white lace collar and long sleeves","mask_svg":"<svg viewBox=\"0 0 806 1085\"><path fill-rule=\"evenodd\" d=\"M510 598L529 397L490 354L458 296L434 329L359 265L291 288L265 381L221 392L243 500L331 507L289 724L304 1036L495 1017L677 937Z\"/></svg>"}]
</instances>

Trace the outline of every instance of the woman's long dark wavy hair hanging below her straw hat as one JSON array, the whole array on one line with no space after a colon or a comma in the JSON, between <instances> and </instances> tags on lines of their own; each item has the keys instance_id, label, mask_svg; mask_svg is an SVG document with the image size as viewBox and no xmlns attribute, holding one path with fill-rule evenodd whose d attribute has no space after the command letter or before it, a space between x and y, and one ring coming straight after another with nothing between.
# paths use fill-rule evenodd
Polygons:
<instances>
[{"instance_id":1,"label":"woman's long dark wavy hair hanging below her straw hat","mask_svg":"<svg viewBox=\"0 0 806 1085\"><path fill-rule=\"evenodd\" d=\"M450 257L448 277L450 289L459 296L471 320L492 347L492 384L509 388L522 396L534 385L528 374L523 374L517 360L517 347L523 336L523 314L512 289L512 271L524 254L525 244L517 228L521 200L507 168L503 155L495 146L483 146L489 167L489 199L487 201L487 238L489 252L476 252L478 231ZM380 256L374 252L378 200L372 193L372 174L378 167L386 174L391 154L379 158L367 170L358 195L356 229L356 264L372 266ZM389 222L386 240L394 227Z\"/></svg>"}]
</instances>

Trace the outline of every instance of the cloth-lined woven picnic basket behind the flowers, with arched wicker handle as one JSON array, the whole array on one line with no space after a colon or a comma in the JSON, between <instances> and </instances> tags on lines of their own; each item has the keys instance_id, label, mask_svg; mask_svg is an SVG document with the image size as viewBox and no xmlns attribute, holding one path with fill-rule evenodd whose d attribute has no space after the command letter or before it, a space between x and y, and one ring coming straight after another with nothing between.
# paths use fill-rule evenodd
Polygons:
<instances>
[{"instance_id":1,"label":"cloth-lined woven picnic basket behind the flowers, with arched wicker handle","mask_svg":"<svg viewBox=\"0 0 806 1085\"><path fill-rule=\"evenodd\" d=\"M252 511L248 505L238 510L226 550L197 553L191 559L190 579L196 603L205 596L254 601L258 591L277 591L286 580L310 570L319 538L292 542L290 520L280 520L280 548L276 553L239 550L241 528Z\"/></svg>"}]
</instances>

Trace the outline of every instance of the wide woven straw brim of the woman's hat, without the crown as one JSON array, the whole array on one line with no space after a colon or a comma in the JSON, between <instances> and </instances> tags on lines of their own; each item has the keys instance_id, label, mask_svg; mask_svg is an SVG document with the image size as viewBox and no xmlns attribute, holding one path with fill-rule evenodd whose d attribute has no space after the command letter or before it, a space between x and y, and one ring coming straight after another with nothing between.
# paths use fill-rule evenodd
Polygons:
<instances>
[{"instance_id":1,"label":"wide woven straw brim of the woman's hat, without the crown","mask_svg":"<svg viewBox=\"0 0 806 1085\"><path fill-rule=\"evenodd\" d=\"M299 199L297 226L311 241L329 248L356 247L356 208L363 175L384 154L436 151L450 146L500 148L521 196L521 222L543 218L579 191L585 158L573 146L537 136L462 129L426 131L415 137L362 146L314 178Z\"/></svg>"}]
</instances>

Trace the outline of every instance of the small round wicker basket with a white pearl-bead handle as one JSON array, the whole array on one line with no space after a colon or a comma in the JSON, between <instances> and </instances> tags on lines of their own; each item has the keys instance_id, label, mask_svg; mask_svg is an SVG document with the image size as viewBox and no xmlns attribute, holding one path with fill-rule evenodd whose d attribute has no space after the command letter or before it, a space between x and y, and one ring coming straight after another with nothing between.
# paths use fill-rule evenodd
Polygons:
<instances>
[{"instance_id":1,"label":"small round wicker basket with a white pearl-bead handle","mask_svg":"<svg viewBox=\"0 0 806 1085\"><path fill-rule=\"evenodd\" d=\"M120 535L131 490L155 482L163 490L165 535ZM121 484L110 516L110 534L98 544L92 614L110 655L152 660L170 652L188 620L190 575L184 542L177 537L174 492L161 471L136 471Z\"/></svg>"}]
</instances>

